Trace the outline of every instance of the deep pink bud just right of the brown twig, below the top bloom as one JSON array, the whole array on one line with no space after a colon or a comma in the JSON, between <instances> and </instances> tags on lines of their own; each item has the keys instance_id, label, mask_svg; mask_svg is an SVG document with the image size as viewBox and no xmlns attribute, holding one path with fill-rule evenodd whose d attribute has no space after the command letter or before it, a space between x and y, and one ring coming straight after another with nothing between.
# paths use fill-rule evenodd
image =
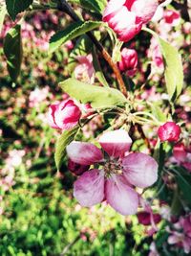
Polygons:
<instances>
[{"instance_id":1,"label":"deep pink bud just right of the brown twig, below the top bloom","mask_svg":"<svg viewBox=\"0 0 191 256\"><path fill-rule=\"evenodd\" d=\"M128 71L129 76L135 75L138 66L138 53L134 49L123 48L121 60L118 62L120 71Z\"/></svg>"}]
</instances>

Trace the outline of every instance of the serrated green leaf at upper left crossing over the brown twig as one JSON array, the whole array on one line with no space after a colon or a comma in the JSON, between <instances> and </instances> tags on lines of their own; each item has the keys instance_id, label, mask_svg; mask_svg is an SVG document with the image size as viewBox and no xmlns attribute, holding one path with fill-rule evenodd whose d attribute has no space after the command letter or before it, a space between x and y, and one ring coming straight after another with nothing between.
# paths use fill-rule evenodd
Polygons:
<instances>
[{"instance_id":1,"label":"serrated green leaf at upper left crossing over the brown twig","mask_svg":"<svg viewBox=\"0 0 191 256\"><path fill-rule=\"evenodd\" d=\"M72 40L79 35L84 35L97 27L102 22L99 21L78 21L69 25L65 30L55 33L50 39L50 53L53 53L58 47L68 40Z\"/></svg>"}]
</instances>

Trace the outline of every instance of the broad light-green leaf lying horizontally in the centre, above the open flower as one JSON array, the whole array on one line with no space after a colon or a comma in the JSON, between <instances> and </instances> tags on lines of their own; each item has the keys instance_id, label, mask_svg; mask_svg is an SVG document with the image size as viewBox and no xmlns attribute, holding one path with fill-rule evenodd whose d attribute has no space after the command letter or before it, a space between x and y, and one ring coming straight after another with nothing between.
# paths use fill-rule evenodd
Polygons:
<instances>
[{"instance_id":1,"label":"broad light-green leaf lying horizontally in the centre, above the open flower","mask_svg":"<svg viewBox=\"0 0 191 256\"><path fill-rule=\"evenodd\" d=\"M68 79L59 83L61 88L77 101L92 107L111 107L125 105L127 99L117 89L100 87L75 79Z\"/></svg>"}]
</instances>

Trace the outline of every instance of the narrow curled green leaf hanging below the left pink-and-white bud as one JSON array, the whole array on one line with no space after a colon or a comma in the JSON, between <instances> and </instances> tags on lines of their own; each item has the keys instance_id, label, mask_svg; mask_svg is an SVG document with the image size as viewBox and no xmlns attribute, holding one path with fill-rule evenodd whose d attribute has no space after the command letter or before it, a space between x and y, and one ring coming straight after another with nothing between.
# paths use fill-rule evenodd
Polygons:
<instances>
[{"instance_id":1,"label":"narrow curled green leaf hanging below the left pink-and-white bud","mask_svg":"<svg viewBox=\"0 0 191 256\"><path fill-rule=\"evenodd\" d=\"M70 130L65 130L57 139L54 153L55 165L57 170L59 170L62 165L63 158L66 154L67 145L69 145L74 140L74 136L77 133L78 129L79 127L77 126Z\"/></svg>"}]
</instances>

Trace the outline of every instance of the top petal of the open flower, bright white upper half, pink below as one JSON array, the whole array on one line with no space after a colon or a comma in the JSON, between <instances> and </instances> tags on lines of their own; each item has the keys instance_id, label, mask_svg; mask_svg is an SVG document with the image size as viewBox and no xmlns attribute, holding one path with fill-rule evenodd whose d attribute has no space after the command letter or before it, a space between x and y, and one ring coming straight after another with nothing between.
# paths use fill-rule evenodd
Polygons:
<instances>
[{"instance_id":1,"label":"top petal of the open flower, bright white upper half, pink below","mask_svg":"<svg viewBox=\"0 0 191 256\"><path fill-rule=\"evenodd\" d=\"M126 151L129 151L132 139L124 129L105 132L100 136L98 142L102 149L110 156L122 156Z\"/></svg>"}]
</instances>

